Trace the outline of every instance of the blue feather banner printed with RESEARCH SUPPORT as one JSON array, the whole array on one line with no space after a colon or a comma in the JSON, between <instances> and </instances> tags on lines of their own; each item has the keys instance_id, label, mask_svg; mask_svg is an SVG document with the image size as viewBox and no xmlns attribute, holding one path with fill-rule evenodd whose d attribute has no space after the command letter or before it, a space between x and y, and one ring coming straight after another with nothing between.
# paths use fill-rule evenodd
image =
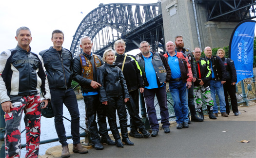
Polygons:
<instances>
[{"instance_id":1,"label":"blue feather banner printed with RESEARCH SUPPORT","mask_svg":"<svg viewBox=\"0 0 256 158\"><path fill-rule=\"evenodd\" d=\"M237 82L253 77L254 30L256 21L244 20L237 24L229 43L229 57L236 67Z\"/></svg>"}]
</instances>

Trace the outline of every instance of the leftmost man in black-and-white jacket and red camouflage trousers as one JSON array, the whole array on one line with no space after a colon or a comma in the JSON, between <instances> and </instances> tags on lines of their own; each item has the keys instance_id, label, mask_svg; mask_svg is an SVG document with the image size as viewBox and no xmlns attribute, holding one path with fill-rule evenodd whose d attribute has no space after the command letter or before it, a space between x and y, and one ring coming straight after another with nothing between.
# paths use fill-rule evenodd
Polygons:
<instances>
[{"instance_id":1,"label":"leftmost man in black-and-white jacket and red camouflage trousers","mask_svg":"<svg viewBox=\"0 0 256 158\"><path fill-rule=\"evenodd\" d=\"M5 157L20 158L20 121L24 111L26 158L38 158L41 109L51 98L43 61L31 52L29 28L20 27L14 49L0 53L0 104L5 112ZM40 91L43 100L40 100ZM44 102L40 106L40 103Z\"/></svg>"}]
</instances>

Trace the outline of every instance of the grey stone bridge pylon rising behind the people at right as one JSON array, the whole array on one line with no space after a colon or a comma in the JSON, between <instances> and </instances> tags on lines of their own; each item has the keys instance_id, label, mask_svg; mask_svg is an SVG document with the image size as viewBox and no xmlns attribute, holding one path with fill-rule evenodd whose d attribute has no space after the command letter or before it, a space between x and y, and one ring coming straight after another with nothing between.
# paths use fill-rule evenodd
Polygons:
<instances>
[{"instance_id":1,"label":"grey stone bridge pylon rising behind the people at right","mask_svg":"<svg viewBox=\"0 0 256 158\"><path fill-rule=\"evenodd\" d=\"M229 46L238 22L207 21L206 5L199 1L202 0L161 0L165 41L182 35L185 47L191 50Z\"/></svg>"}]
</instances>

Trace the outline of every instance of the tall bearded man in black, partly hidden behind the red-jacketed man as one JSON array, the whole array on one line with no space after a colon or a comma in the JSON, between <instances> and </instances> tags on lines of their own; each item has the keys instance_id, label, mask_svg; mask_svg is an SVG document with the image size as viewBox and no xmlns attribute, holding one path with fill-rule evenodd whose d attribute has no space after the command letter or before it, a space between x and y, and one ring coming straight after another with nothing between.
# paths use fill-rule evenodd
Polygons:
<instances>
[{"instance_id":1,"label":"tall bearded man in black, partly hidden behind the red-jacketed man","mask_svg":"<svg viewBox=\"0 0 256 158\"><path fill-rule=\"evenodd\" d=\"M193 79L192 79L192 85L188 89L188 107L189 107L189 110L191 113L191 121L201 122L201 121L203 121L203 118L197 117L197 112L196 112L195 102L194 102L194 82L197 79L197 69L195 66L194 59L192 57L192 53L188 48L184 48L184 42L183 42L182 35L177 35L175 37L175 45L176 45L175 51L182 52L182 53L186 54L188 57L189 63L191 64ZM190 120L188 123L190 124Z\"/></svg>"}]
</instances>

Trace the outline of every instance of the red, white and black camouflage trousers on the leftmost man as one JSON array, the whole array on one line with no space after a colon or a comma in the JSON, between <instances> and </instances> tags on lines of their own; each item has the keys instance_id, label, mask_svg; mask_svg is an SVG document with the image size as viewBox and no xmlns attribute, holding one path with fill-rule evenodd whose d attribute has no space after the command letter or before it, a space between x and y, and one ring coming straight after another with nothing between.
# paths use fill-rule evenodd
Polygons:
<instances>
[{"instance_id":1,"label":"red, white and black camouflage trousers on the leftmost man","mask_svg":"<svg viewBox=\"0 0 256 158\"><path fill-rule=\"evenodd\" d=\"M20 121L24 111L26 129L26 156L38 158L40 142L40 95L18 96L11 95L13 109L5 113L5 156L6 158L20 158Z\"/></svg>"}]
</instances>

